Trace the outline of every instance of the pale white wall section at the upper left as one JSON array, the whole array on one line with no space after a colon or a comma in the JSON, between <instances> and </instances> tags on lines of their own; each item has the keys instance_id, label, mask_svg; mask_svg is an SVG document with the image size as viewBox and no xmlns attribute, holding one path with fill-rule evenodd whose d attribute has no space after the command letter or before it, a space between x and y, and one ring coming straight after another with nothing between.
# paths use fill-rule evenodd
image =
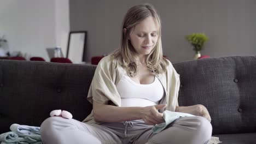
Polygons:
<instances>
[{"instance_id":1,"label":"pale white wall section at the upper left","mask_svg":"<svg viewBox=\"0 0 256 144\"><path fill-rule=\"evenodd\" d=\"M66 50L69 32L68 0L0 0L0 33L10 51L40 56L49 61L47 47Z\"/></svg>"}]
</instances>

